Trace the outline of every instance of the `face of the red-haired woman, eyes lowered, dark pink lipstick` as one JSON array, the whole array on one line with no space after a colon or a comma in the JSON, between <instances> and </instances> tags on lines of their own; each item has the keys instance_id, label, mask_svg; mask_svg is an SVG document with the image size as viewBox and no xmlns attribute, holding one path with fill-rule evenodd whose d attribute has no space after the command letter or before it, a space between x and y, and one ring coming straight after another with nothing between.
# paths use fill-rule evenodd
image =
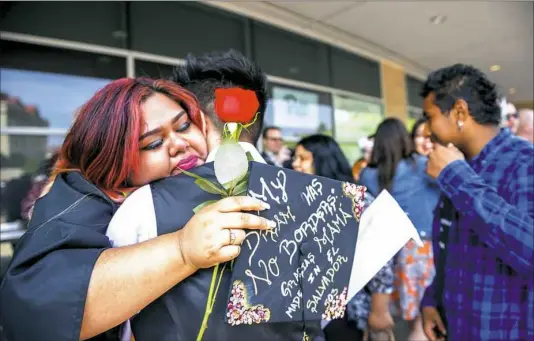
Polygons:
<instances>
[{"instance_id":1,"label":"face of the red-haired woman, eyes lowered, dark pink lipstick","mask_svg":"<svg viewBox=\"0 0 534 341\"><path fill-rule=\"evenodd\" d=\"M185 110L162 94L150 96L141 107L145 127L139 138L139 173L134 186L189 170L206 160L206 138Z\"/></svg>"}]
</instances>

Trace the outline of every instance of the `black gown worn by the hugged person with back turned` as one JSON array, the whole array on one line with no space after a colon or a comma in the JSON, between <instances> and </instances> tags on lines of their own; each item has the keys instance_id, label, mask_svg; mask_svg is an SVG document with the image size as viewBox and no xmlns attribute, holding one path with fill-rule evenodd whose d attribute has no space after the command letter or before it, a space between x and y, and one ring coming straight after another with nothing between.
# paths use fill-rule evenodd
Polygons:
<instances>
[{"instance_id":1,"label":"black gown worn by the hugged person with back turned","mask_svg":"<svg viewBox=\"0 0 534 341\"><path fill-rule=\"evenodd\" d=\"M216 181L213 163L194 172ZM151 184L158 235L174 232L193 216L193 208L217 195L194 184L193 178L179 174ZM212 278L212 269L204 269L180 282L165 295L143 309L132 320L136 341L194 341L200 329ZM230 289L230 270L225 271L203 341L302 341L303 324L265 323L230 326L224 321ZM322 334L320 321L307 322L310 340Z\"/></svg>"}]
</instances>

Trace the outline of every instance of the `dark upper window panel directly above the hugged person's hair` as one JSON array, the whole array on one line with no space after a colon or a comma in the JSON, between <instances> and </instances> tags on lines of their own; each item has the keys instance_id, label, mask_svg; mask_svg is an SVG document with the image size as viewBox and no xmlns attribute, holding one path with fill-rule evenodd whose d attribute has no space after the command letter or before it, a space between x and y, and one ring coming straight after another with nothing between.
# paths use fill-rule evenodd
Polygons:
<instances>
[{"instance_id":1,"label":"dark upper window panel directly above the hugged person's hair","mask_svg":"<svg viewBox=\"0 0 534 341\"><path fill-rule=\"evenodd\" d=\"M245 51L245 19L189 1L132 1L131 48L183 58L235 49Z\"/></svg>"}]
</instances>

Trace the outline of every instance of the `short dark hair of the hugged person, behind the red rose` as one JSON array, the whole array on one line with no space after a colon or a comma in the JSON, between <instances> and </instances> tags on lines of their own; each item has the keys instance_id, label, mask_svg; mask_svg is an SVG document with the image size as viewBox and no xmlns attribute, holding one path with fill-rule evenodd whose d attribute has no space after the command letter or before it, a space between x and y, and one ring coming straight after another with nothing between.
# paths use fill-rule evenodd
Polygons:
<instances>
[{"instance_id":1,"label":"short dark hair of the hugged person, behind the red rose","mask_svg":"<svg viewBox=\"0 0 534 341\"><path fill-rule=\"evenodd\" d=\"M188 55L184 65L174 68L171 80L195 94L202 111L221 131L224 122L215 113L215 89L239 87L254 91L260 103L258 118L242 135L256 144L267 106L267 76L256 63L235 50Z\"/></svg>"}]
</instances>

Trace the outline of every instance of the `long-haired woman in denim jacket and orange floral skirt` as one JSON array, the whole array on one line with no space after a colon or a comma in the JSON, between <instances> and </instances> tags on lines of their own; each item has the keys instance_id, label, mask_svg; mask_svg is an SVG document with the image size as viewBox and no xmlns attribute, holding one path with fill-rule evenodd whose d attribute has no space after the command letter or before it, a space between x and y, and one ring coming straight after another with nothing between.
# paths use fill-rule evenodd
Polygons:
<instances>
[{"instance_id":1,"label":"long-haired woman in denim jacket and orange floral skirt","mask_svg":"<svg viewBox=\"0 0 534 341\"><path fill-rule=\"evenodd\" d=\"M427 158L415 152L404 124L395 118L382 121L375 134L369 166L360 182L372 195L387 190L406 212L423 240L418 247L409 241L396 258L396 292L402 318L410 322L409 340L425 340L419 303L434 278L432 217L439 188L426 173Z\"/></svg>"}]
</instances>

